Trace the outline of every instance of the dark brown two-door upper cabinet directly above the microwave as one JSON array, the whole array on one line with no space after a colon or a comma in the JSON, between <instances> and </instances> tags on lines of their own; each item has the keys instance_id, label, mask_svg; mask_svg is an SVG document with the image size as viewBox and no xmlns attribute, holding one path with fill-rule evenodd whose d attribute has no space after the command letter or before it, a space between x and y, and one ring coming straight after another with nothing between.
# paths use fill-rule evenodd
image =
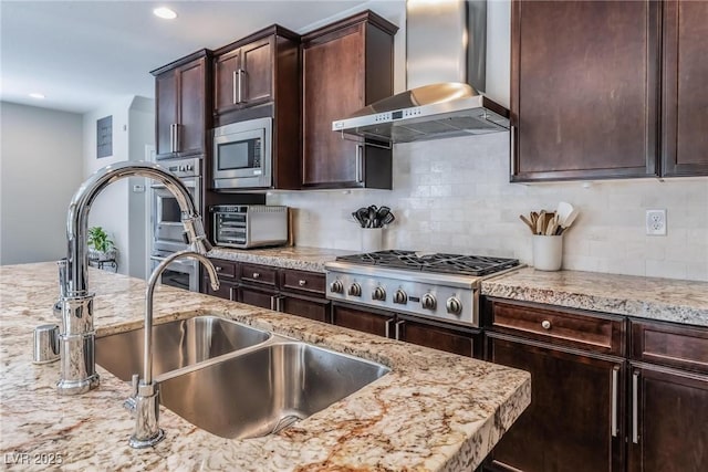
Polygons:
<instances>
[{"instance_id":1,"label":"dark brown two-door upper cabinet directly above the microwave","mask_svg":"<svg viewBox=\"0 0 708 472\"><path fill-rule=\"evenodd\" d=\"M275 102L300 116L300 36L272 25L214 52L215 126L258 117L247 108Z\"/></svg>"}]
</instances>

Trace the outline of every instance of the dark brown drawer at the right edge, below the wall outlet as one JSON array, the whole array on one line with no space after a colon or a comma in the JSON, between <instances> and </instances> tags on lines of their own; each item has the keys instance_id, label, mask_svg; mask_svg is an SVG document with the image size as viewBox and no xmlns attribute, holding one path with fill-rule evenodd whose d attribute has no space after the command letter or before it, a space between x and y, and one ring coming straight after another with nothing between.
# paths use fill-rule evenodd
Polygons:
<instances>
[{"instance_id":1,"label":"dark brown drawer at the right edge, below the wall outlet","mask_svg":"<svg viewBox=\"0 0 708 472\"><path fill-rule=\"evenodd\" d=\"M708 374L708 328L631 319L633 360Z\"/></svg>"}]
</instances>

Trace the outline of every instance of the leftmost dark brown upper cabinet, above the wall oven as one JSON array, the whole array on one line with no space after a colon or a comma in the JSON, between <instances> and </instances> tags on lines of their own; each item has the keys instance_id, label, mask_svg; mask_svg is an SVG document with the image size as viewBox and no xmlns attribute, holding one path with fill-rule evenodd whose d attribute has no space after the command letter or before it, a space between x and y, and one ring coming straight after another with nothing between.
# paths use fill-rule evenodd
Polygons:
<instances>
[{"instance_id":1,"label":"leftmost dark brown upper cabinet, above the wall oven","mask_svg":"<svg viewBox=\"0 0 708 472\"><path fill-rule=\"evenodd\" d=\"M150 73L155 76L157 159L204 155L211 128L211 52L201 50Z\"/></svg>"}]
</instances>

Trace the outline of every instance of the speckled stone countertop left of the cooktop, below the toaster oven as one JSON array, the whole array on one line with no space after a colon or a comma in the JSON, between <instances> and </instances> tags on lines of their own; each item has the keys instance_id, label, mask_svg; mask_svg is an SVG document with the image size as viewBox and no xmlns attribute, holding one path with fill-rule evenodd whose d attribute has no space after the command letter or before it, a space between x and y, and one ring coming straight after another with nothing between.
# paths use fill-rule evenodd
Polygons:
<instances>
[{"instance_id":1,"label":"speckled stone countertop left of the cooktop, below the toaster oven","mask_svg":"<svg viewBox=\"0 0 708 472\"><path fill-rule=\"evenodd\" d=\"M324 248L282 247L267 249L229 249L214 248L210 258L229 261L251 262L256 264L273 265L283 269L324 272L324 263L334 261L337 255L353 254L352 251Z\"/></svg>"}]
</instances>

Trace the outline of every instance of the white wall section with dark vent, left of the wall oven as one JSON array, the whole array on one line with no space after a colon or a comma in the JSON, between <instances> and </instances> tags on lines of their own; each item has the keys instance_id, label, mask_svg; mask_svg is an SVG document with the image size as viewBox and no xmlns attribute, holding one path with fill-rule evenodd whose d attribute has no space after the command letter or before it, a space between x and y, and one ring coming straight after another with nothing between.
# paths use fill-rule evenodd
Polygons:
<instances>
[{"instance_id":1,"label":"white wall section with dark vent, left of the wall oven","mask_svg":"<svg viewBox=\"0 0 708 472\"><path fill-rule=\"evenodd\" d=\"M145 145L154 143L154 102L145 97L125 96L83 116L84 174L124 160L144 160ZM96 157L96 120L113 116L113 155ZM137 277L146 276L145 199L148 192L134 192L135 185L145 179L118 180L96 197L88 212L88 225L101 225L118 249L118 272Z\"/></svg>"}]
</instances>

